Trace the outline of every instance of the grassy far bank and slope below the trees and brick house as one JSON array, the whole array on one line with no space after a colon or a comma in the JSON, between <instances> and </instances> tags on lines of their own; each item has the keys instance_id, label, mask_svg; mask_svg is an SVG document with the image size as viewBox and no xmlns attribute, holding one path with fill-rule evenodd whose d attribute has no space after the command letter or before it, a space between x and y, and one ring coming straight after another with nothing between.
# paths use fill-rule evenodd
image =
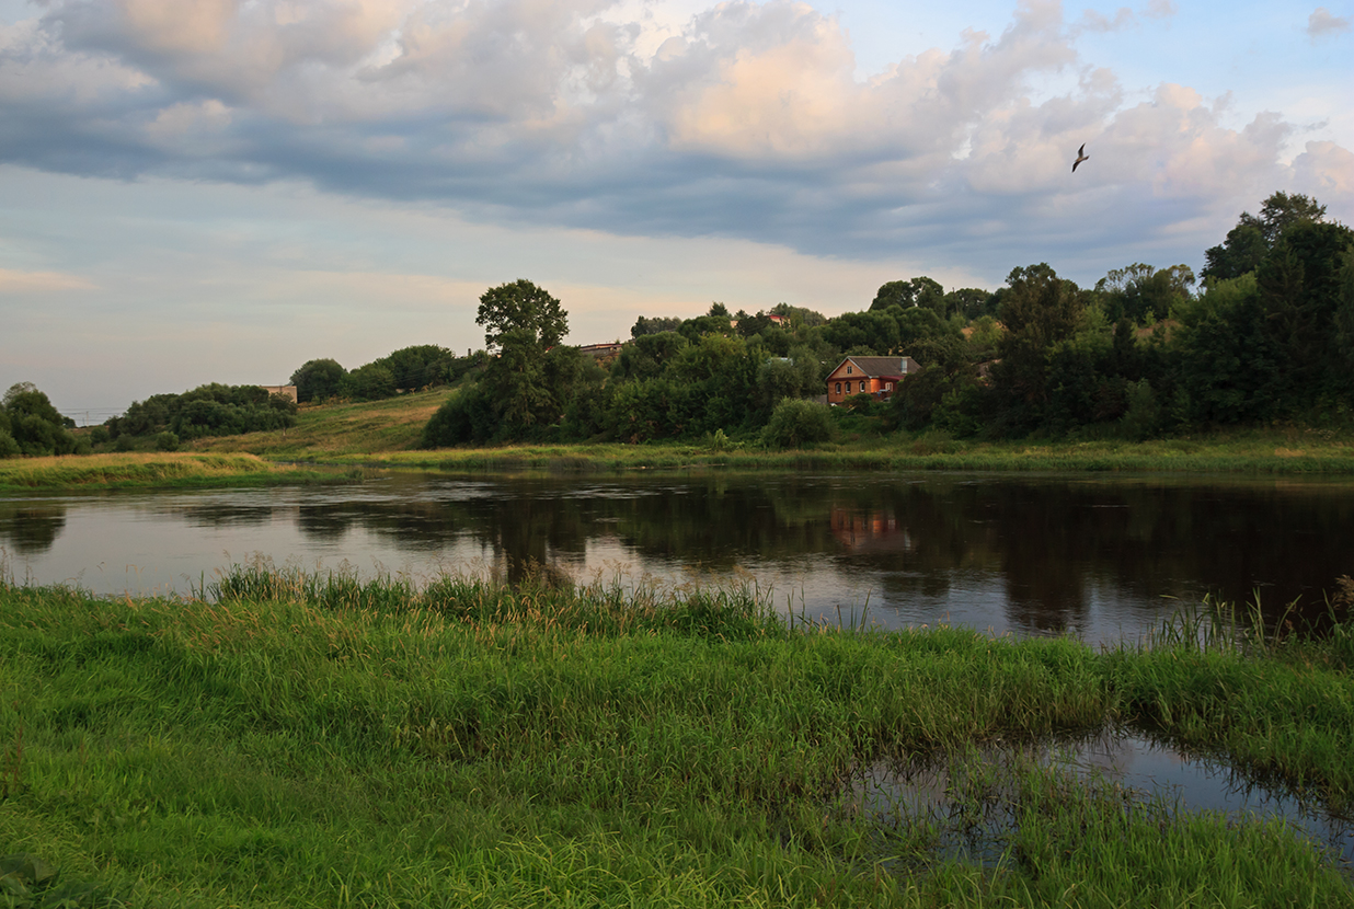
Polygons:
<instances>
[{"instance_id":1,"label":"grassy far bank and slope below the trees and brick house","mask_svg":"<svg viewBox=\"0 0 1354 909\"><path fill-rule=\"evenodd\" d=\"M367 404L303 407L286 433L206 438L199 452L443 471L604 472L731 468L769 471L1072 471L1354 475L1354 440L1304 427L1247 429L1148 442L979 442L942 434L877 434L867 423L804 450L766 450L756 441L650 445L506 445L421 450L422 426L445 391Z\"/></svg>"}]
</instances>

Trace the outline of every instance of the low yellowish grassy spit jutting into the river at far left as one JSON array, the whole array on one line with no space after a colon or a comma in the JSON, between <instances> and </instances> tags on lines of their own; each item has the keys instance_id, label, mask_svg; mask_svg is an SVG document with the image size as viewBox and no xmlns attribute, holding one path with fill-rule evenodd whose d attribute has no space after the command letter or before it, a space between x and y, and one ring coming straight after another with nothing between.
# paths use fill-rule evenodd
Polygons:
<instances>
[{"instance_id":1,"label":"low yellowish grassy spit jutting into the river at far left","mask_svg":"<svg viewBox=\"0 0 1354 909\"><path fill-rule=\"evenodd\" d=\"M328 482L333 477L333 472L276 464L246 453L161 452L0 460L0 491L89 486L255 486Z\"/></svg>"}]
</instances>

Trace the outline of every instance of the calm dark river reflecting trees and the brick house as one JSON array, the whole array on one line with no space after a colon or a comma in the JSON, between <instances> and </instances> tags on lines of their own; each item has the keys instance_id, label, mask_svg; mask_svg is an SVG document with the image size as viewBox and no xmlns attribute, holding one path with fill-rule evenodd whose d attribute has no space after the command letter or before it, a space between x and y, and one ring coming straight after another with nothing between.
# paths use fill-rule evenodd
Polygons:
<instances>
[{"instance_id":1,"label":"calm dark river reflecting trees and the brick house","mask_svg":"<svg viewBox=\"0 0 1354 909\"><path fill-rule=\"evenodd\" d=\"M456 479L0 498L9 574L187 592L255 555L425 579L754 580L779 609L890 628L1136 637L1181 602L1324 611L1354 574L1349 482L994 475Z\"/></svg>"}]
</instances>

